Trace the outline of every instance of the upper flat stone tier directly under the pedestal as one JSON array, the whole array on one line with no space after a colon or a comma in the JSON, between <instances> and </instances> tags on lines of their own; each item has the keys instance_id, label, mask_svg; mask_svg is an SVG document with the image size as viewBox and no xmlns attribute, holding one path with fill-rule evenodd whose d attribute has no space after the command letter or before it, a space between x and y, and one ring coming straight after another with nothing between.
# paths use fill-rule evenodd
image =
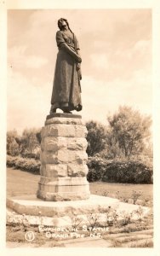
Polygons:
<instances>
[{"instance_id":1,"label":"upper flat stone tier directly under the pedestal","mask_svg":"<svg viewBox=\"0 0 160 256\"><path fill-rule=\"evenodd\" d=\"M117 199L90 195L89 199L79 201L43 201L36 195L21 195L7 199L7 207L20 214L38 215L39 212L47 217L77 216L91 212L105 212L109 206L115 206Z\"/></svg>"}]
</instances>

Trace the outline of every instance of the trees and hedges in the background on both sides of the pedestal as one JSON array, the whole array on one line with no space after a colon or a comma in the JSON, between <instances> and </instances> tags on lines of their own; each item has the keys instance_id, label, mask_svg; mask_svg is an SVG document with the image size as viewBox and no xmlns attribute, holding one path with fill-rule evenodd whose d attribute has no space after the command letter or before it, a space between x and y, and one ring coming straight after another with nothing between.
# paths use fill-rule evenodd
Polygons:
<instances>
[{"instance_id":1,"label":"trees and hedges in the background on both sides of the pedestal","mask_svg":"<svg viewBox=\"0 0 160 256\"><path fill-rule=\"evenodd\" d=\"M106 125L90 120L86 127L89 181L152 183L150 116L123 106L107 117ZM40 143L40 129L25 129L22 136L15 130L8 131L7 154L12 156L8 157L9 166L14 163L18 168L21 163L20 168L25 170L27 166L30 172L30 165L22 158L34 158L39 166Z\"/></svg>"}]
</instances>

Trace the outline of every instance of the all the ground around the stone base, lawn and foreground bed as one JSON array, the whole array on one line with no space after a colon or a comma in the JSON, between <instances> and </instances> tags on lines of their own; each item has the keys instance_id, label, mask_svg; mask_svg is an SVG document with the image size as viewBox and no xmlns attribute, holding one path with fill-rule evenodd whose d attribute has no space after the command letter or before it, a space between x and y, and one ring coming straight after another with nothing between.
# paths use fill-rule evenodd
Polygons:
<instances>
[{"instance_id":1,"label":"all the ground around the stone base, lawn and foreground bed","mask_svg":"<svg viewBox=\"0 0 160 256\"><path fill-rule=\"evenodd\" d=\"M39 175L22 172L8 168L7 170L7 195L31 195L37 192ZM135 191L135 192L134 192ZM139 193L140 191L140 193ZM135 203L152 208L151 184L128 183L90 183L91 194L116 197L120 201L136 199ZM26 241L25 234L32 230L35 234L34 241ZM82 230L79 230L80 234ZM37 227L23 225L7 225L8 247L152 247L152 213L144 219L130 223L126 217L123 223L111 224L106 232L99 238L85 234L85 238L56 240L52 237L46 239L44 234L38 232Z\"/></svg>"}]
</instances>

